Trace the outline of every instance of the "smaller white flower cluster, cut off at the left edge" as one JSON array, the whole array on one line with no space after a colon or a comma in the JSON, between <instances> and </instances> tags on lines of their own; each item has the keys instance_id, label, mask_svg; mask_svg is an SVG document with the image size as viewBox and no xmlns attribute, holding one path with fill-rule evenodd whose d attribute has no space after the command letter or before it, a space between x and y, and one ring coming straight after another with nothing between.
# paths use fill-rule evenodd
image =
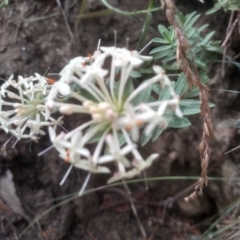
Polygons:
<instances>
[{"instance_id":1,"label":"smaller white flower cluster, cut off at the left edge","mask_svg":"<svg viewBox=\"0 0 240 240\"><path fill-rule=\"evenodd\" d=\"M52 109L47 107L46 97L52 85L48 79L35 76L13 80L11 76L1 86L0 93L0 123L6 133L17 138L37 141L45 135L44 126L61 124L61 118L51 117Z\"/></svg>"}]
</instances>

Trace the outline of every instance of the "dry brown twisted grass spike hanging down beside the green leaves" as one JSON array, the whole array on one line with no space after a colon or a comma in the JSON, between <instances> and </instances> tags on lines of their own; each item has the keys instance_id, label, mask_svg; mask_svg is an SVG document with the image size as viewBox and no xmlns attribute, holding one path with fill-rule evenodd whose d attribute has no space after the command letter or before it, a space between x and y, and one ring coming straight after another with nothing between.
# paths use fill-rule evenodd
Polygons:
<instances>
[{"instance_id":1,"label":"dry brown twisted grass spike hanging down beside the green leaves","mask_svg":"<svg viewBox=\"0 0 240 240\"><path fill-rule=\"evenodd\" d=\"M204 185L207 186L208 184L207 167L210 154L209 139L213 135L212 119L209 108L208 87L203 84L200 79L191 46L179 22L177 21L176 5L173 0L165 0L165 6L167 19L169 23L173 26L177 39L177 63L182 69L182 71L185 73L189 87L198 87L200 90L199 97L201 101L201 115L203 117L203 134L202 141L199 145L199 152L201 157L202 173L201 178L199 179L198 184L195 187L194 193L192 193L188 198L186 198L186 200L189 200L190 198L201 195Z\"/></svg>"}]
</instances>

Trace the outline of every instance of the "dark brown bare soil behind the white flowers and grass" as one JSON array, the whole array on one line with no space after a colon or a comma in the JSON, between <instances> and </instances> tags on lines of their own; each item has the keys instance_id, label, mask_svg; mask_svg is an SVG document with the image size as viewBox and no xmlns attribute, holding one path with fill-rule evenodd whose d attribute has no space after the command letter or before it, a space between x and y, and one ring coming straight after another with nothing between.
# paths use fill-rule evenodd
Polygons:
<instances>
[{"instance_id":1,"label":"dark brown bare soil behind the white flowers and grass","mask_svg":"<svg viewBox=\"0 0 240 240\"><path fill-rule=\"evenodd\" d=\"M81 19L78 15L82 1L61 1L69 22L69 33L63 15L56 1L14 0L0 10L0 77L7 79L11 74L32 75L57 73L69 59L92 53L98 39L101 45L114 43L114 30L117 30L117 45L125 46L129 38L130 49L134 49L141 34L144 15L126 17L110 14ZM109 0L110 4L125 11L146 9L148 1ZM177 1L176 5L185 13L193 10L204 13L213 1ZM88 1L86 13L104 10L98 0ZM229 15L223 12L202 17L200 24L207 22L210 29L217 31L216 38L224 39ZM78 22L78 24L77 24ZM163 11L153 14L153 21L145 43L158 36L157 25L167 24ZM145 51L147 53L149 49ZM235 47L232 51L239 51ZM211 142L212 154L209 175L230 177L239 164L239 152L223 155L239 144L240 136L234 128L239 121L239 95L216 89L240 90L239 70L228 66L224 77L221 63L212 64L209 87L211 101L216 104L212 110L214 139ZM153 144L142 149L143 154L158 152L161 160L148 170L148 176L199 176L200 160L198 144L201 138L201 117L190 118L192 126L187 129L165 131ZM83 117L65 117L65 127L71 129ZM0 145L9 136L0 133ZM59 186L68 165L62 162L54 150L38 157L38 153L50 146L48 137L39 144L19 142L12 148L11 140L0 158L0 171L7 169L13 173L13 180L24 211L25 219L0 201L0 239L18 239L17 236L38 216L34 226L20 238L25 240L140 240L142 239L137 221L131 211L126 194L120 187L95 191L83 198L71 200L58 206L59 197L80 189L86 173L74 169L63 186ZM88 189L99 187L106 182L105 177L94 176ZM194 187L194 181L150 182L150 189L144 184L131 184L132 198L135 201L140 221L149 240L199 239L213 219L235 197L229 182L210 181L204 195L196 201L184 202ZM235 191L236 192L236 191ZM55 206L55 207L54 207ZM206 220L205 222L203 222Z\"/></svg>"}]
</instances>

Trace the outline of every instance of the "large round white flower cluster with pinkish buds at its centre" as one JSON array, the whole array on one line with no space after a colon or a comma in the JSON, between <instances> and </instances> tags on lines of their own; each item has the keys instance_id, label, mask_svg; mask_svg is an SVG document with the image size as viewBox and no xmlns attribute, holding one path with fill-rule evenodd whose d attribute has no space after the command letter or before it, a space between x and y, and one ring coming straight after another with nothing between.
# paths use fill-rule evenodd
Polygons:
<instances>
[{"instance_id":1,"label":"large round white flower cluster with pinkish buds at its centre","mask_svg":"<svg viewBox=\"0 0 240 240\"><path fill-rule=\"evenodd\" d=\"M74 58L64 67L60 80L53 85L46 99L47 107L44 109L54 106L63 114L89 114L91 120L60 135L49 127L51 141L61 158L89 173L111 173L106 163L114 162L117 170L108 183L130 179L151 166L158 154L144 159L139 153L136 142L140 129L146 126L145 133L150 134L156 126L167 127L164 119L167 108L178 117L182 114L179 98L159 66L153 67L155 76L129 93L127 88L131 72L149 60L151 57L141 56L137 51L100 47L93 56ZM104 67L107 64L110 64L109 68ZM153 84L160 84L162 88L167 85L171 99L134 105L134 98ZM75 104L56 101L58 93L75 99ZM126 93L129 94L126 96ZM91 153L86 145L94 139L97 145Z\"/></svg>"}]
</instances>

